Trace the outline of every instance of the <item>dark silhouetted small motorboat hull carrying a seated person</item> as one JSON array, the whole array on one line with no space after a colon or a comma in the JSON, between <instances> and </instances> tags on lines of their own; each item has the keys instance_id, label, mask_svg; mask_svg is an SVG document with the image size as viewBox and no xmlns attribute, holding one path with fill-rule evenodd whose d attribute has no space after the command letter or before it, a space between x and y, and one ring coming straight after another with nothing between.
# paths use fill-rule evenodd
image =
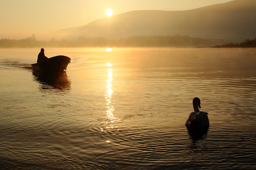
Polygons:
<instances>
[{"instance_id":1,"label":"dark silhouetted small motorboat hull carrying a seated person","mask_svg":"<svg viewBox=\"0 0 256 170\"><path fill-rule=\"evenodd\" d=\"M33 67L34 72L58 73L66 71L70 62L71 59L69 57L58 55L35 64L31 64L31 66Z\"/></svg>"}]
</instances>

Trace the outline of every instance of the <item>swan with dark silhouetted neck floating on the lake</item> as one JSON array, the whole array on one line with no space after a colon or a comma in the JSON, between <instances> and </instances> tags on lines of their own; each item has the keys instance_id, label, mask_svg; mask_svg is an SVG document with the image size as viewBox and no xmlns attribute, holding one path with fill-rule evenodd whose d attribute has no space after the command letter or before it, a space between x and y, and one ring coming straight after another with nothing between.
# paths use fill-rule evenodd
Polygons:
<instances>
[{"instance_id":1,"label":"swan with dark silhouetted neck floating on the lake","mask_svg":"<svg viewBox=\"0 0 256 170\"><path fill-rule=\"evenodd\" d=\"M208 113L204 111L199 111L200 99L198 97L193 98L194 111L191 112L186 120L186 127L189 130L200 130L209 127Z\"/></svg>"}]
</instances>

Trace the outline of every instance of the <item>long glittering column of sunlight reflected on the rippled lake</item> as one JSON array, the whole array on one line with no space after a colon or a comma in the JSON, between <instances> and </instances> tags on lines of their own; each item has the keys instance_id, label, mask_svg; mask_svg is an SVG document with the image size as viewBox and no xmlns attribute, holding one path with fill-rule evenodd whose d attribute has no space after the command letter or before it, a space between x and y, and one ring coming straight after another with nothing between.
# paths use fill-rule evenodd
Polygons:
<instances>
[{"instance_id":1,"label":"long glittering column of sunlight reflected on the rippled lake","mask_svg":"<svg viewBox=\"0 0 256 170\"><path fill-rule=\"evenodd\" d=\"M111 67L112 65L110 63L106 63L106 65L108 67ZM106 98L106 109L107 109L107 117L105 118L104 120L104 123L106 123L106 128L107 129L113 129L113 128L118 128L118 126L115 125L115 122L116 121L119 121L120 119L119 118L116 118L114 115L113 115L113 111L115 110L114 107L111 105L111 98L112 98L112 94L113 94L113 90L112 90L112 75L113 75L113 69L112 68L109 68L108 69L108 79L106 80L107 82L107 90L106 90L106 93L105 94L105 98ZM119 130L119 129L118 129ZM101 131L106 131L106 130L103 130L103 128L101 128Z\"/></svg>"}]
</instances>

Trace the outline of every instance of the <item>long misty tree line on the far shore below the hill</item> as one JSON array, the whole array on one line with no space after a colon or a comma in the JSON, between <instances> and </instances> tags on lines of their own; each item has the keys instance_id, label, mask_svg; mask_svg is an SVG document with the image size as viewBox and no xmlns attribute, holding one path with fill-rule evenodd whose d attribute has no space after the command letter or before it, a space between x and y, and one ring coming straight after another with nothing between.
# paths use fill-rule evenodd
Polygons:
<instances>
[{"instance_id":1,"label":"long misty tree line on the far shore below the hill","mask_svg":"<svg viewBox=\"0 0 256 170\"><path fill-rule=\"evenodd\" d=\"M1 39L0 48L75 48L75 47L200 47L227 44L224 40L191 38L188 35L130 36L119 40L79 36L76 40L39 41L33 34L21 40Z\"/></svg>"}]
</instances>

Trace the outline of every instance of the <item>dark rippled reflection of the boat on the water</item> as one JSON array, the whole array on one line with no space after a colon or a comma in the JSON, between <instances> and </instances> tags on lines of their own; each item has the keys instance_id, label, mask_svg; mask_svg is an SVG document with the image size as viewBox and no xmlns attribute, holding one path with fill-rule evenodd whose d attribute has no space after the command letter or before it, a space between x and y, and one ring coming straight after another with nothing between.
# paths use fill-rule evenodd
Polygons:
<instances>
[{"instance_id":1,"label":"dark rippled reflection of the boat on the water","mask_svg":"<svg viewBox=\"0 0 256 170\"><path fill-rule=\"evenodd\" d=\"M34 81L39 83L39 88L43 92L64 92L71 89L71 81L66 72L53 74L33 72L32 74Z\"/></svg>"}]
</instances>

